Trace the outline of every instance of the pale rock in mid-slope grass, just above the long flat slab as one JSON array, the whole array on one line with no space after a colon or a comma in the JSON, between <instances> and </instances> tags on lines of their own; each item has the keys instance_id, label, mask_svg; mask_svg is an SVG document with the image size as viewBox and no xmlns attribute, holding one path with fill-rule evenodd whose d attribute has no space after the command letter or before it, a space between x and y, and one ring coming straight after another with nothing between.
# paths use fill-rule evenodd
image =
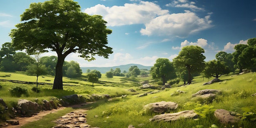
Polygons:
<instances>
[{"instance_id":1,"label":"pale rock in mid-slope grass, just above the long flat slab","mask_svg":"<svg viewBox=\"0 0 256 128\"><path fill-rule=\"evenodd\" d=\"M144 106L145 109L149 109L152 112L158 112L158 113L164 113L168 110L175 110L177 109L178 104L175 102L155 102L155 103L149 103Z\"/></svg>"}]
</instances>

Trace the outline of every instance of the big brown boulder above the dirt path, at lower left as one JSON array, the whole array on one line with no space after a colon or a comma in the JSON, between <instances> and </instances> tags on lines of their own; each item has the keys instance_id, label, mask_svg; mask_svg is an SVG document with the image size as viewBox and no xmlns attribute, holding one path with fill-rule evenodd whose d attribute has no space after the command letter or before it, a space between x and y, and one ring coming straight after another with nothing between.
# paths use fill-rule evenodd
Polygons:
<instances>
[{"instance_id":1,"label":"big brown boulder above the dirt path, at lower left","mask_svg":"<svg viewBox=\"0 0 256 128\"><path fill-rule=\"evenodd\" d=\"M31 117L34 113L39 111L39 105L26 99L19 99L17 104L17 112L21 115Z\"/></svg>"}]
</instances>

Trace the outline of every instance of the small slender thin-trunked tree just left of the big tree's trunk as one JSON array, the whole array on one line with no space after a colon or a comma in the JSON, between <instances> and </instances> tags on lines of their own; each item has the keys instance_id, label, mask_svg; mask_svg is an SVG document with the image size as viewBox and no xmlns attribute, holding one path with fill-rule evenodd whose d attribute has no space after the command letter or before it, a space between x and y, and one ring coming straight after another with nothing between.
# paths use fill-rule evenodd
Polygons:
<instances>
[{"instance_id":1,"label":"small slender thin-trunked tree just left of the big tree's trunk","mask_svg":"<svg viewBox=\"0 0 256 128\"><path fill-rule=\"evenodd\" d=\"M38 87L38 76L47 74L47 67L40 63L39 54L35 55L36 62L29 65L26 74L36 76L36 87Z\"/></svg>"}]
</instances>

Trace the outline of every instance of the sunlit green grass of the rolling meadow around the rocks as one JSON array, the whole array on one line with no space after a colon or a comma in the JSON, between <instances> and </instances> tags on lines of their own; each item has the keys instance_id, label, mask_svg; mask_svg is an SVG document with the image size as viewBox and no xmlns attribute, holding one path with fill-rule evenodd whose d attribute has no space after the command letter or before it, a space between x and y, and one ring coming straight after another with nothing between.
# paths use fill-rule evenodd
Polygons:
<instances>
[{"instance_id":1,"label":"sunlit green grass of the rolling meadow around the rocks","mask_svg":"<svg viewBox=\"0 0 256 128\"><path fill-rule=\"evenodd\" d=\"M219 78L222 82L204 86L202 84L207 82L208 79L203 79L202 76L196 76L190 85L183 86L183 82L180 82L179 84L173 85L173 88L166 88L165 90L139 89L139 86L141 86L139 82L146 80L150 81L150 85L157 86L157 82L153 81L151 76L137 77L136 79L114 76L114 78L108 79L105 74L102 74L102 78L99 79L98 83L94 83L93 88L92 83L87 82L85 77L79 79L63 77L63 84L70 84L63 86L64 90L52 90L52 85L39 85L39 93L31 91L31 88L35 85L0 81L0 85L2 86L0 89L0 98L7 103L8 108L12 108L16 105L18 99L34 101L38 98L41 101L43 99L49 100L53 97L61 98L70 94L79 94L84 97L89 97L90 94L109 94L113 97L112 100L101 99L87 106L81 106L82 108L89 109L87 111L88 124L92 127L97 126L100 128L127 128L130 124L136 128L217 128L216 126L218 128L256 128L256 97L251 96L251 94L256 93L255 75L254 73L224 75ZM0 79L36 81L36 76L26 76L22 72L0 72ZM38 82L53 83L53 81L53 76L38 77ZM9 90L15 86L26 88L29 93L21 97L12 97ZM134 89L136 92L130 92L128 89ZM213 102L191 97L192 94L203 89L218 89L222 91L222 94L217 95ZM179 94L177 90L185 91L186 93ZM138 97L138 94L153 91L160 92ZM121 95L125 94L128 96L124 99L121 98ZM149 122L149 119L154 115L158 115L158 113L150 112L144 109L144 106L148 103L159 101L178 103L178 108L176 110L170 110L168 113L194 110L199 116L197 119ZM216 109L238 112L240 115L237 116L242 118L242 120L237 124L220 124L213 116ZM72 111L72 109L68 109L65 112L67 111ZM52 128L53 124L49 124L49 126L45 124L44 120L48 118L45 117L37 121L37 128ZM55 118L57 119L58 116L52 116L50 120L55 120ZM29 123L27 127L33 123ZM140 127L138 126L139 124L144 125Z\"/></svg>"}]
</instances>

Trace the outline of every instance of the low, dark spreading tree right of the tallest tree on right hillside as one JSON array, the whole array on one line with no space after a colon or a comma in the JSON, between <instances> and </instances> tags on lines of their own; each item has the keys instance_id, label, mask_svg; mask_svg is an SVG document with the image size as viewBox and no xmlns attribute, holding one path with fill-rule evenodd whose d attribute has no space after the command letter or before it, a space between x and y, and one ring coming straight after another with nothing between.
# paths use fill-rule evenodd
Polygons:
<instances>
[{"instance_id":1,"label":"low, dark spreading tree right of the tallest tree on right hillside","mask_svg":"<svg viewBox=\"0 0 256 128\"><path fill-rule=\"evenodd\" d=\"M206 77L213 76L219 78L224 74L229 74L229 67L225 65L224 61L212 60L206 63L204 70Z\"/></svg>"}]
</instances>

